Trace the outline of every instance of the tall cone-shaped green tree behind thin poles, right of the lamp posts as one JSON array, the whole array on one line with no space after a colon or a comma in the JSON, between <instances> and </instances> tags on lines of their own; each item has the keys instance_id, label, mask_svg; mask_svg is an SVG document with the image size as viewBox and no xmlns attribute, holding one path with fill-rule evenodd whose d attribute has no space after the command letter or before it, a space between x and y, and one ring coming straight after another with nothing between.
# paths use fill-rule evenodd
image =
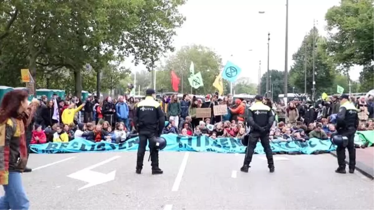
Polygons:
<instances>
[{"instance_id":1,"label":"tall cone-shaped green tree behind thin poles, right of the lamp posts","mask_svg":"<svg viewBox=\"0 0 374 210\"><path fill-rule=\"evenodd\" d=\"M328 59L326 55L326 44L324 37L318 35L315 28L315 46L313 46L313 29L304 37L301 46L292 59L295 61L289 71L289 83L291 87L295 87L298 92L304 93L305 86L305 51L307 60L306 69L306 92L311 95L313 88L313 47L315 58L315 88L316 95L329 91L334 81L335 65Z\"/></svg>"}]
</instances>

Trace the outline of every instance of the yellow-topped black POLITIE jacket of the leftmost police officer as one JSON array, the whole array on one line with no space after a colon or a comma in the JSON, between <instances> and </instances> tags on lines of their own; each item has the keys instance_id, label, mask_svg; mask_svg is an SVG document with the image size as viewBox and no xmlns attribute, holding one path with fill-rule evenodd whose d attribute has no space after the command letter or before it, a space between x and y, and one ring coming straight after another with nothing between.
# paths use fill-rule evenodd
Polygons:
<instances>
[{"instance_id":1,"label":"yellow-topped black POLITIE jacket of the leftmost police officer","mask_svg":"<svg viewBox=\"0 0 374 210\"><path fill-rule=\"evenodd\" d=\"M160 135L165 126L165 114L159 102L147 96L137 104L134 121L139 133L155 133Z\"/></svg>"}]
</instances>

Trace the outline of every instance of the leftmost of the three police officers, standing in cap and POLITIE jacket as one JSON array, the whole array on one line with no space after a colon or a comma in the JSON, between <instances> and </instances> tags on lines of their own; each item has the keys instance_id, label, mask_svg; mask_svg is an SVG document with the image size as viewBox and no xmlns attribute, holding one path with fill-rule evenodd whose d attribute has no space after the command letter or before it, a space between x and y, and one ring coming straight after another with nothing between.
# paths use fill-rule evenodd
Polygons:
<instances>
[{"instance_id":1,"label":"leftmost of the three police officers, standing in cap and POLITIE jacket","mask_svg":"<svg viewBox=\"0 0 374 210\"><path fill-rule=\"evenodd\" d=\"M135 125L139 133L137 174L140 174L143 168L147 139L153 141L154 138L160 136L165 126L165 114L162 111L160 103L154 100L156 92L153 89L147 89L145 95L145 99L138 103L134 116ZM162 174L163 171L159 168L158 150L150 148L150 153L152 174Z\"/></svg>"}]
</instances>

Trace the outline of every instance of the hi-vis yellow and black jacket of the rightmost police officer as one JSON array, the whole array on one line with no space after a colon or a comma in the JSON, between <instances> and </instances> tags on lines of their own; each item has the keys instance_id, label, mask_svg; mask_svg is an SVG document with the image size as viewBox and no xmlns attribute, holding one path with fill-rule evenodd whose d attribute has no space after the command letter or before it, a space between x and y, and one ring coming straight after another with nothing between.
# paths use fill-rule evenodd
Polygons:
<instances>
[{"instance_id":1,"label":"hi-vis yellow and black jacket of the rightmost police officer","mask_svg":"<svg viewBox=\"0 0 374 210\"><path fill-rule=\"evenodd\" d=\"M358 127L358 115L356 107L349 101L342 104L336 116L337 130Z\"/></svg>"}]
</instances>

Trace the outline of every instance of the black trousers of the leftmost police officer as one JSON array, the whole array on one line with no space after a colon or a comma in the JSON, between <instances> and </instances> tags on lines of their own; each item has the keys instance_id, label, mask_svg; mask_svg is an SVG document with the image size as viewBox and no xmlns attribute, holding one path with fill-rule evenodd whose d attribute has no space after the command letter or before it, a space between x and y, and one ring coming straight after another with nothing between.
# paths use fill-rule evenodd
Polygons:
<instances>
[{"instance_id":1,"label":"black trousers of the leftmost police officer","mask_svg":"<svg viewBox=\"0 0 374 210\"><path fill-rule=\"evenodd\" d=\"M145 147L147 146L147 140L152 140L156 138L156 135L151 132L140 132L139 133L139 146L138 146L138 157L137 157L137 169L143 168L143 160L145 154ZM157 149L151 149L151 166L152 169L157 169L159 167L159 151Z\"/></svg>"}]
</instances>

